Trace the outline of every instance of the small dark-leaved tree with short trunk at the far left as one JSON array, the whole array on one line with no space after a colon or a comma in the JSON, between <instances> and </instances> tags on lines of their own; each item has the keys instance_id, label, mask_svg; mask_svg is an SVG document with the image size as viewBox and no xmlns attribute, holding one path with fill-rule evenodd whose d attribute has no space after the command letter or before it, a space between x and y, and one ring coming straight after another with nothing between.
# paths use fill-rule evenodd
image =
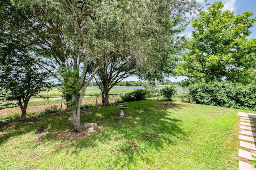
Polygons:
<instances>
[{"instance_id":1,"label":"small dark-leaved tree with short trunk at the far left","mask_svg":"<svg viewBox=\"0 0 256 170\"><path fill-rule=\"evenodd\" d=\"M10 37L4 33L6 37ZM0 39L0 98L18 101L21 120L32 96L53 87L45 61L34 56L30 43L17 39Z\"/></svg>"}]
</instances>

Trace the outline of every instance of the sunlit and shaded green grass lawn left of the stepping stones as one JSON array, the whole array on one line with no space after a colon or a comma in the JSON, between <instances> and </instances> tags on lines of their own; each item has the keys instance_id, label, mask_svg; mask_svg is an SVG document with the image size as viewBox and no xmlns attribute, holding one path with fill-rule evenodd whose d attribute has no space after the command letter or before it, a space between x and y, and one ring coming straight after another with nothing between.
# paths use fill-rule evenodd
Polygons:
<instances>
[{"instance_id":1,"label":"sunlit and shaded green grass lawn left of the stepping stones","mask_svg":"<svg viewBox=\"0 0 256 170\"><path fill-rule=\"evenodd\" d=\"M0 122L0 169L238 168L237 112L242 110L153 100L123 104L128 106L124 117L118 117L118 104L83 111L82 123L98 126L77 140L68 137L70 113ZM47 127L39 139L36 131Z\"/></svg>"}]
</instances>

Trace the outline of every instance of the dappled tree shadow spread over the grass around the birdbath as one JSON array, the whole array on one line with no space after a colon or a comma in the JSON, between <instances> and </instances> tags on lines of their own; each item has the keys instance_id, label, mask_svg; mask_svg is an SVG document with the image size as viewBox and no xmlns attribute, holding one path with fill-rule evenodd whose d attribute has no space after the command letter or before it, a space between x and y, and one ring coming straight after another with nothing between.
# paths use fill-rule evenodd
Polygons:
<instances>
[{"instance_id":1,"label":"dappled tree shadow spread over the grass around the birdbath","mask_svg":"<svg viewBox=\"0 0 256 170\"><path fill-rule=\"evenodd\" d=\"M184 104L166 104L166 101L140 101L128 102L124 110L124 117L118 117L120 109L117 107L103 107L90 112L91 116L81 115L81 122L97 122L96 132L91 133L83 139L74 142L63 143L62 147L56 147L52 154L58 154L63 150L72 154L79 154L86 148L100 147L106 145L116 154L114 164L119 164L120 159L126 158L128 164L134 164L134 154L140 155L142 159L145 153L158 152L168 145L176 145L186 138L186 133L179 127L183 120L173 118L172 109L181 109ZM35 132L40 128L50 125L48 139L63 140L56 137L56 132L60 130L72 129L68 123L67 113L51 114L31 118L25 122L12 122L2 127L7 129L6 133L0 136L0 145L10 137L16 137L25 133ZM119 121L115 121L119 119ZM120 123L118 123L120 122ZM47 145L45 141L40 141ZM33 142L33 141L28 141ZM124 163L124 164L127 164Z\"/></svg>"}]
</instances>

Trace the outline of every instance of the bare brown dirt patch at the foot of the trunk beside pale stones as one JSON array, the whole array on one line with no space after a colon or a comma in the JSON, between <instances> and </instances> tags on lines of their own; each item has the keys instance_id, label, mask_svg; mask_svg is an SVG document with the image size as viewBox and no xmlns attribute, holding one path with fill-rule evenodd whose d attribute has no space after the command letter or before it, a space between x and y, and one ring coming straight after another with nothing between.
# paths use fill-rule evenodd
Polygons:
<instances>
[{"instance_id":1,"label":"bare brown dirt patch at the foot of the trunk beside pale stones","mask_svg":"<svg viewBox=\"0 0 256 170\"><path fill-rule=\"evenodd\" d=\"M84 131L76 132L74 129L67 129L65 131L59 131L55 136L60 138L68 138L72 141L76 141L77 139L82 139L86 135L88 135L88 130L90 127L85 126Z\"/></svg>"}]
</instances>

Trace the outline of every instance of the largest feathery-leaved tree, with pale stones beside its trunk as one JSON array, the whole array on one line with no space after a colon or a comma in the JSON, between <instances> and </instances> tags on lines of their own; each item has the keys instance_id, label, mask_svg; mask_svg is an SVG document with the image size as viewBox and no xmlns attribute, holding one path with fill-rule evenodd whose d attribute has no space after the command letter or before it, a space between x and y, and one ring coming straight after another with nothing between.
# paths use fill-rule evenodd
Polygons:
<instances>
[{"instance_id":1,"label":"largest feathery-leaved tree, with pale stones beside its trunk","mask_svg":"<svg viewBox=\"0 0 256 170\"><path fill-rule=\"evenodd\" d=\"M173 34L166 25L182 23L180 16L198 9L196 1L184 0L11 2L1 1L0 27L21 33L40 48L41 55L59 65L66 94L72 96L69 121L76 131L84 129L80 123L84 91L102 65L117 55L134 57L138 65L147 63L155 45L161 49L170 43ZM19 13L20 20L13 18Z\"/></svg>"}]
</instances>

